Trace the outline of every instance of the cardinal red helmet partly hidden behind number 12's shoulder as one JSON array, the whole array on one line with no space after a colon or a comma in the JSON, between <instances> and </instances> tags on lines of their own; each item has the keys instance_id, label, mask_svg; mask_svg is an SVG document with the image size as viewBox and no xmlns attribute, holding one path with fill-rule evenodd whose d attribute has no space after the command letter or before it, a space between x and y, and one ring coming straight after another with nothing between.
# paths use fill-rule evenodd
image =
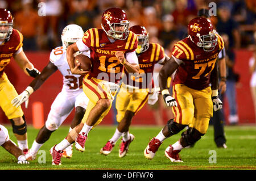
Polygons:
<instances>
[{"instance_id":1,"label":"cardinal red helmet partly hidden behind number 12's shoulder","mask_svg":"<svg viewBox=\"0 0 256 181\"><path fill-rule=\"evenodd\" d=\"M138 47L136 49L136 53L139 54L139 53L145 52L149 47L148 32L146 28L143 26L135 25L133 27L130 27L129 30L134 32L138 37L139 42L138 42Z\"/></svg>"}]
</instances>

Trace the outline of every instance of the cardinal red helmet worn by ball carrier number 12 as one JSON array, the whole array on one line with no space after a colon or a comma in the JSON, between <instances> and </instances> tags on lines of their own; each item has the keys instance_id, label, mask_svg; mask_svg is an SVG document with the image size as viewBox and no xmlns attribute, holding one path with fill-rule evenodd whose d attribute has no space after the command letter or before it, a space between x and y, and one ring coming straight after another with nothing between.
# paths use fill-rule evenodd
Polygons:
<instances>
[{"instance_id":1,"label":"cardinal red helmet worn by ball carrier number 12","mask_svg":"<svg viewBox=\"0 0 256 181\"><path fill-rule=\"evenodd\" d=\"M101 27L108 36L118 40L125 40L129 35L129 21L125 11L113 7L103 12Z\"/></svg>"}]
</instances>

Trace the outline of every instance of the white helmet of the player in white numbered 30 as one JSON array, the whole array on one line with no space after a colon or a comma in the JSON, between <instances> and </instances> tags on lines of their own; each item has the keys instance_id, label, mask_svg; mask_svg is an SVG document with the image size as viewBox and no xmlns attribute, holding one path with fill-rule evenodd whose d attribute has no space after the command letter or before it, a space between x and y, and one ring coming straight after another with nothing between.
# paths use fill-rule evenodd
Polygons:
<instances>
[{"instance_id":1,"label":"white helmet of the player in white numbered 30","mask_svg":"<svg viewBox=\"0 0 256 181\"><path fill-rule=\"evenodd\" d=\"M75 43L77 40L82 39L84 31L76 24L69 24L66 26L61 34L61 41L63 48L67 49L69 45Z\"/></svg>"}]
</instances>

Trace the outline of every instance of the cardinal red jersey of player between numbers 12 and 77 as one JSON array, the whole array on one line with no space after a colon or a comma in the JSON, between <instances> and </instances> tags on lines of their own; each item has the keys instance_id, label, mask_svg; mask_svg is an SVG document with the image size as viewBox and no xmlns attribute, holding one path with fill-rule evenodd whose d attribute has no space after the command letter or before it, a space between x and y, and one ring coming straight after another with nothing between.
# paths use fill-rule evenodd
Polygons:
<instances>
[{"instance_id":1,"label":"cardinal red jersey of player between numbers 12 and 77","mask_svg":"<svg viewBox=\"0 0 256 181\"><path fill-rule=\"evenodd\" d=\"M139 87L139 89L147 89L152 86L152 73L154 66L160 60L163 60L164 48L157 43L151 43L148 49L138 54L139 60L139 76L135 77L132 73L128 73L125 70L126 77L123 83L130 86Z\"/></svg>"}]
</instances>

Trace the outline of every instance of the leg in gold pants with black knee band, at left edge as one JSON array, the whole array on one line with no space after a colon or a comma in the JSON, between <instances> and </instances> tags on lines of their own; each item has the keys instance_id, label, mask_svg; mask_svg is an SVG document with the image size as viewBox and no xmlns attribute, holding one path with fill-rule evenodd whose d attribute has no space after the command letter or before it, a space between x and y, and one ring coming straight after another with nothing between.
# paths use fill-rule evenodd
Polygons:
<instances>
[{"instance_id":1,"label":"leg in gold pants with black knee band, at left edge","mask_svg":"<svg viewBox=\"0 0 256 181\"><path fill-rule=\"evenodd\" d=\"M11 122L13 133L18 141L19 148L22 149L24 153L27 153L28 142L26 120L23 116L22 108L20 106L16 108L11 104L11 100L16 96L18 96L18 93L4 73L0 79L0 107Z\"/></svg>"}]
</instances>

